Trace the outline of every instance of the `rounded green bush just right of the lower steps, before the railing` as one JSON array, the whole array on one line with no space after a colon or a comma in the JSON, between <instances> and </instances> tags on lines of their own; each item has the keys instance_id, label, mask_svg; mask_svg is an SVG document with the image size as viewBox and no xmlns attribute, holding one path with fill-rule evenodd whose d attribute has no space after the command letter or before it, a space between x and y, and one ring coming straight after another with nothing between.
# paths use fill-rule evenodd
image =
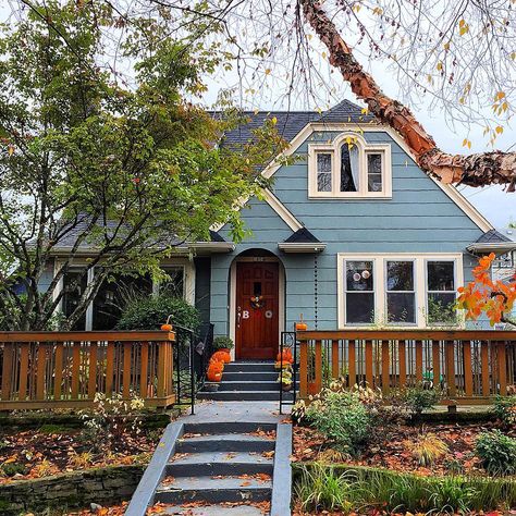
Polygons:
<instances>
[{"instance_id":1,"label":"rounded green bush just right of the lower steps, before the railing","mask_svg":"<svg viewBox=\"0 0 516 516\"><path fill-rule=\"evenodd\" d=\"M357 392L333 392L306 407L305 417L317 431L334 441L336 447L356 455L372 435L374 418Z\"/></svg>"}]
</instances>

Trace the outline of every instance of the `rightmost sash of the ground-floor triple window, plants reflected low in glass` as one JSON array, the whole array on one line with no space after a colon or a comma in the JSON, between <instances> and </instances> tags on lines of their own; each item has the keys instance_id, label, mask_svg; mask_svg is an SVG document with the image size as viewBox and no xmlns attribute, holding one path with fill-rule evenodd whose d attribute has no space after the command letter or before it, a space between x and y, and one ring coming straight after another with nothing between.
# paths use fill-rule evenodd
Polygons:
<instances>
[{"instance_id":1,"label":"rightmost sash of the ground-floor triple window, plants reflected low in glass","mask_svg":"<svg viewBox=\"0 0 516 516\"><path fill-rule=\"evenodd\" d=\"M456 322L455 262L427 262L427 319L429 324Z\"/></svg>"}]
</instances>

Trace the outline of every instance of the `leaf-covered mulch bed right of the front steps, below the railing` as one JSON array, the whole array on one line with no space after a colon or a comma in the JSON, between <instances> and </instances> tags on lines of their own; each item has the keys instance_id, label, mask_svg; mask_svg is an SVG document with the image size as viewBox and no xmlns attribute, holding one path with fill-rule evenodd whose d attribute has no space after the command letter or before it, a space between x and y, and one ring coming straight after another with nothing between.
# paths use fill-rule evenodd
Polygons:
<instances>
[{"instance_id":1,"label":"leaf-covered mulch bed right of the front steps, below the railing","mask_svg":"<svg viewBox=\"0 0 516 516\"><path fill-rule=\"evenodd\" d=\"M497 428L496 423L471 425L426 425L423 427L396 426L382 429L381 437L366 447L359 458L342 457L332 451L331 444L311 428L294 427L294 462L324 460L359 466L384 467L395 471L417 475L449 475L464 472L484 475L474 455L477 437L487 430ZM418 464L407 449L406 442L414 441L421 432L432 432L443 440L449 451L432 467ZM505 430L516 438L516 429Z\"/></svg>"}]
</instances>

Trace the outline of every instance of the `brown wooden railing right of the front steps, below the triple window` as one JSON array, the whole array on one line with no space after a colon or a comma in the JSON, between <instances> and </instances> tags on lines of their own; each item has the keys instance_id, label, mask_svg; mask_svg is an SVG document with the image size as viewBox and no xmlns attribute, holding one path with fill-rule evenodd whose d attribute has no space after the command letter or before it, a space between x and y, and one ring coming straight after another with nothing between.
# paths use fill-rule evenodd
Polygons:
<instances>
[{"instance_id":1,"label":"brown wooden railing right of the front steps, below the triple window","mask_svg":"<svg viewBox=\"0 0 516 516\"><path fill-rule=\"evenodd\" d=\"M332 379L383 393L426 382L459 404L489 403L516 383L516 332L345 330L302 331L299 397Z\"/></svg>"}]
</instances>

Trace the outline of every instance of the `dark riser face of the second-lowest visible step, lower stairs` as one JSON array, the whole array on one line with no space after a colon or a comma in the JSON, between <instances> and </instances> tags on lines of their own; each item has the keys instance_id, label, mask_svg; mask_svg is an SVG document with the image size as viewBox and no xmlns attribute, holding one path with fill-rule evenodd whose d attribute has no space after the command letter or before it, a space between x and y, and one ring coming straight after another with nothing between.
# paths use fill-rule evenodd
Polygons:
<instances>
[{"instance_id":1,"label":"dark riser face of the second-lowest visible step, lower stairs","mask_svg":"<svg viewBox=\"0 0 516 516\"><path fill-rule=\"evenodd\" d=\"M167 476L172 477L214 477L224 475L254 475L265 472L272 476L272 463L206 463L206 464L168 464Z\"/></svg>"}]
</instances>

